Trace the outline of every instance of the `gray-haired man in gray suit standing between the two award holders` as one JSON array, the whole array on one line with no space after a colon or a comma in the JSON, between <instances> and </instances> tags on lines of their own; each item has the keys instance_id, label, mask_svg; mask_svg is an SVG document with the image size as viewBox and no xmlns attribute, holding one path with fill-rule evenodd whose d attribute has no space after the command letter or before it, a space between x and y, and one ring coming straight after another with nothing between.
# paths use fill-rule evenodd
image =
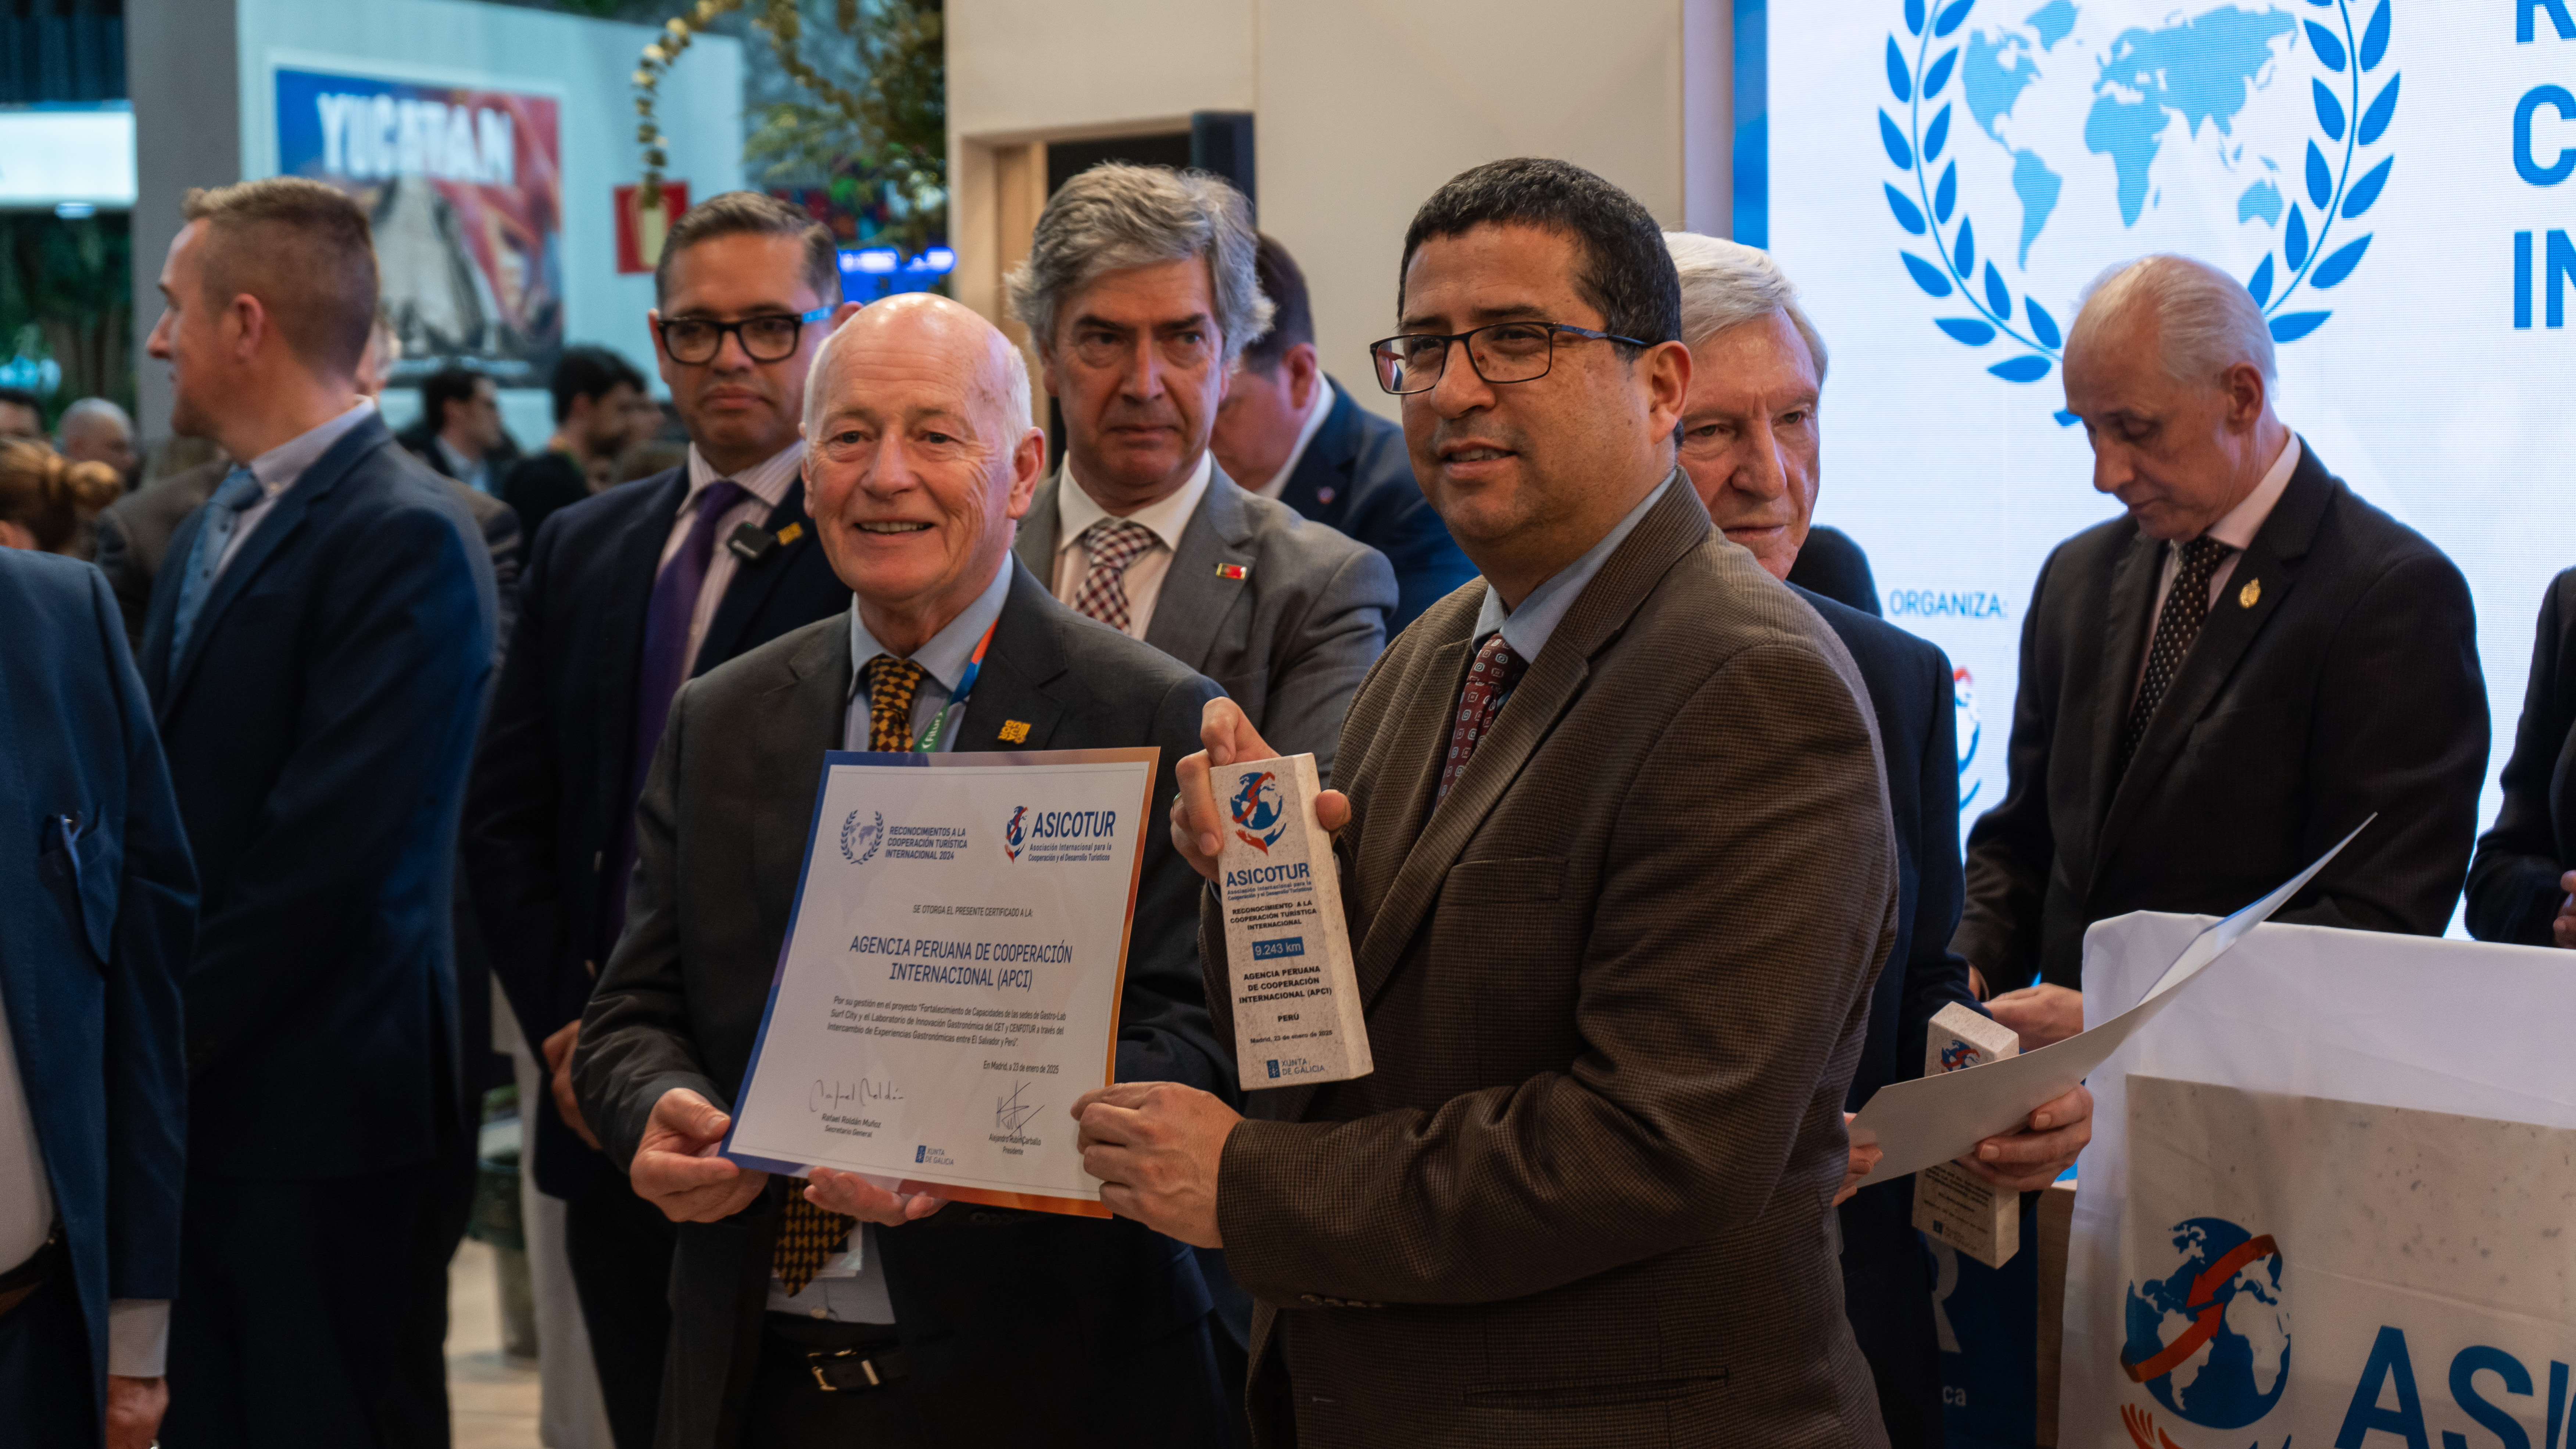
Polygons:
<instances>
[{"instance_id":1,"label":"gray-haired man in gray suit standing between the two award holders","mask_svg":"<svg viewBox=\"0 0 2576 1449\"><path fill-rule=\"evenodd\" d=\"M1283 754L1332 772L1386 649L1386 556L1234 484L1208 453L1244 347L1270 329L1244 196L1206 172L1097 165L1046 203L1010 275L1064 463L1018 553L1074 613L1216 679Z\"/></svg>"}]
</instances>

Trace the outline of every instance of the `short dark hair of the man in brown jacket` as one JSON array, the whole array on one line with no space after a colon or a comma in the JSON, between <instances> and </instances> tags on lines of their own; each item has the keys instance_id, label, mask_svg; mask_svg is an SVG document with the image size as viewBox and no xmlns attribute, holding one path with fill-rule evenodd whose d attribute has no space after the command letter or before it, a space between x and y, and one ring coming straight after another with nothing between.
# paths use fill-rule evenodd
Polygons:
<instances>
[{"instance_id":1,"label":"short dark hair of the man in brown jacket","mask_svg":"<svg viewBox=\"0 0 2576 1449\"><path fill-rule=\"evenodd\" d=\"M1664 229L1633 196L1574 162L1512 157L1453 175L1404 229L1396 265L1396 314L1404 270L1422 242L1476 226L1538 226L1574 239L1574 291L1602 314L1602 329L1641 342L1682 340L1682 278L1664 247ZM1636 347L1618 345L1623 355Z\"/></svg>"}]
</instances>

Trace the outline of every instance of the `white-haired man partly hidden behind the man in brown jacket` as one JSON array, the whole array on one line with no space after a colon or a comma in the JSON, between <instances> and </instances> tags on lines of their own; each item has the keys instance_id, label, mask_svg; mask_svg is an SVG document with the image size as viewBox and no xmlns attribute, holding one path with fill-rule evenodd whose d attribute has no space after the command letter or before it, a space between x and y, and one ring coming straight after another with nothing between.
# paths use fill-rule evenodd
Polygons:
<instances>
[{"instance_id":1,"label":"white-haired man partly hidden behind the man in brown jacket","mask_svg":"<svg viewBox=\"0 0 2576 1449\"><path fill-rule=\"evenodd\" d=\"M1888 821L1896 829L1896 942L1870 991L1868 1037L1844 1094L1857 1112L1891 1081L1922 1076L1932 1014L1971 1004L1958 929L1958 736L1950 659L1860 607L1808 589L1801 566L1821 484L1826 350L1798 291L1770 255L1716 237L1667 232L1682 278L1690 394L1682 401L1682 471L1708 517L1824 615L1870 690ZM2092 1140L2092 1094L2032 1114L2022 1132L1981 1143L1963 1166L2004 1186L2045 1186ZM1991 1153L1991 1156L1989 1156ZM1860 1171L1875 1150L1855 1153ZM1914 1233L1914 1184L1886 1181L1839 1202L1842 1302L1870 1361L1893 1449L1942 1444L1940 1341L1932 1259Z\"/></svg>"}]
</instances>

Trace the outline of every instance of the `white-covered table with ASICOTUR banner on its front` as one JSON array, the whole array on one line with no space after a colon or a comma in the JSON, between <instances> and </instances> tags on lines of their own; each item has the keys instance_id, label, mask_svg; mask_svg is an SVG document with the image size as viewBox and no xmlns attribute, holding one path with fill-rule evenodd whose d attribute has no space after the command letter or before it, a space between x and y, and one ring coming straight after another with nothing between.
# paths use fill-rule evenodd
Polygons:
<instances>
[{"instance_id":1,"label":"white-covered table with ASICOTUR banner on its front","mask_svg":"<svg viewBox=\"0 0 2576 1449\"><path fill-rule=\"evenodd\" d=\"M2208 921L2084 939L2087 1017ZM2058 1444L2566 1444L2576 957L2259 927L2094 1076Z\"/></svg>"}]
</instances>

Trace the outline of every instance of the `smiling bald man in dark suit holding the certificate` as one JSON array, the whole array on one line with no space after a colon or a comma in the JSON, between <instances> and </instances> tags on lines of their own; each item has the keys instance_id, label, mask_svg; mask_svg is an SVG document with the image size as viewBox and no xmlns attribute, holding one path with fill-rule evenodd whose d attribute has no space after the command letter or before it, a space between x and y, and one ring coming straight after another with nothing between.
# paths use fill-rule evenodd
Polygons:
<instances>
[{"instance_id":1,"label":"smiling bald man in dark suit holding the certificate","mask_svg":"<svg viewBox=\"0 0 2576 1449\"><path fill-rule=\"evenodd\" d=\"M572 1058L608 1156L680 1225L657 1444L1221 1444L1234 1410L1188 1246L716 1156L824 752L1149 744L1167 798L1216 697L1012 561L1046 435L1028 365L974 311L896 296L845 322L814 355L804 440L853 607L680 687L636 808L626 934ZM1195 906L1198 875L1146 831L1118 1081L1231 1096Z\"/></svg>"}]
</instances>

